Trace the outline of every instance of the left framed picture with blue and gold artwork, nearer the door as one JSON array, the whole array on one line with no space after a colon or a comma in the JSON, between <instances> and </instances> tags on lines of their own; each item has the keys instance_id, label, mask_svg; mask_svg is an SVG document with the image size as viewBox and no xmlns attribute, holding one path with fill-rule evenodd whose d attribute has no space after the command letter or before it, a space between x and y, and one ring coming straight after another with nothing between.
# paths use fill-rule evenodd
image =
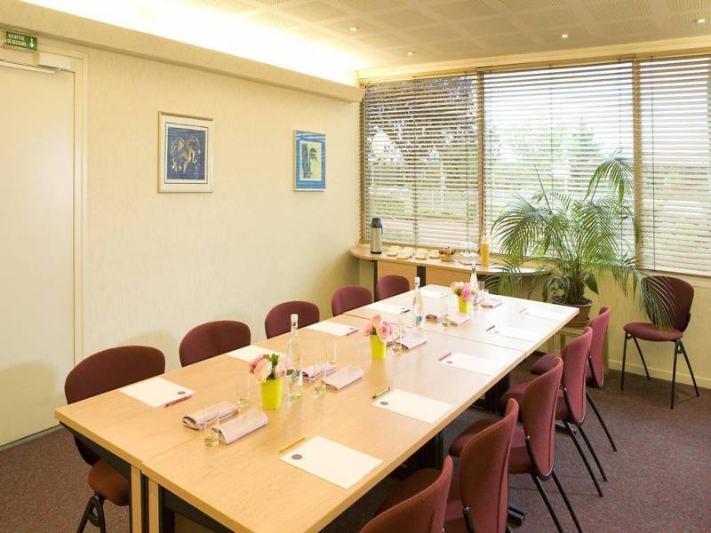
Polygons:
<instances>
[{"instance_id":1,"label":"left framed picture with blue and gold artwork, nearer the door","mask_svg":"<svg viewBox=\"0 0 711 533\"><path fill-rule=\"evenodd\" d=\"M158 117L158 192L212 193L212 118Z\"/></svg>"}]
</instances>

